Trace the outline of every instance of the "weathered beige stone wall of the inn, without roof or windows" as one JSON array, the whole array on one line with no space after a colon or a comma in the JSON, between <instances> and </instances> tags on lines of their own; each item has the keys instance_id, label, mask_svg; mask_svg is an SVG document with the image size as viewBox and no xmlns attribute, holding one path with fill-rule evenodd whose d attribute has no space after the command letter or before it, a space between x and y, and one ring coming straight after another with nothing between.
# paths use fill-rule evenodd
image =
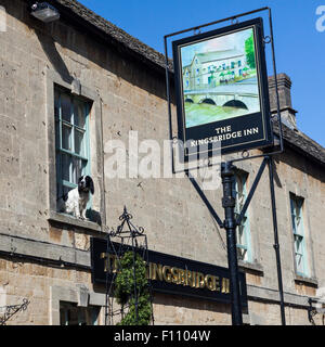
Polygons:
<instances>
[{"instance_id":1,"label":"weathered beige stone wall of the inn, without roof or windows","mask_svg":"<svg viewBox=\"0 0 325 347\"><path fill-rule=\"evenodd\" d=\"M162 141L169 137L165 76L99 43L64 20L44 25L31 18L22 0L0 0L0 4L6 10L8 24L6 31L0 33L0 236L40 241L47 243L47 247L64 246L62 255L68 257L68 253L76 249L89 250L89 237L99 235L101 228L84 230L82 226L57 220L49 222L50 157L53 157L53 153L48 153L50 73L55 72L67 83L77 78L81 86L96 94L101 104L103 149L108 140L116 139L123 141L129 152L130 130L139 131L139 143L154 139L161 149ZM226 267L224 231L216 224L188 179L106 177L103 182L99 164L102 153L96 137L99 119L93 107L90 123L91 167L96 189L94 207L100 209L105 197L106 226L117 227L126 205L134 216L134 223L145 228L151 249ZM162 150L160 154L162 163ZM103 155L105 169L109 154ZM248 187L260 163L256 159L237 165L250 174ZM306 305L307 296L315 294L315 285L295 281L289 192L306 198L310 277L318 281L318 286L325 286L322 233L325 175L322 168L289 149L275 164L284 290ZM103 184L105 194L101 189ZM221 188L206 195L222 217ZM249 219L253 266L248 266L248 294L258 286L260 295L268 297L270 291L277 290L277 278L266 170L249 208ZM31 252L32 246L26 249ZM47 256L51 257L51 252ZM12 323L49 324L50 285L86 283L92 287L87 271L53 269L23 260L21 265L2 260L2 265L0 286L8 287L11 304L23 296L31 298L28 310ZM162 295L156 299L155 316L161 324L229 324L231 321L229 307L222 305ZM306 310L290 308L287 312L291 324L308 323ZM281 322L276 304L250 301L249 313L263 316L265 324ZM24 318L27 321L23 321Z\"/></svg>"}]
</instances>

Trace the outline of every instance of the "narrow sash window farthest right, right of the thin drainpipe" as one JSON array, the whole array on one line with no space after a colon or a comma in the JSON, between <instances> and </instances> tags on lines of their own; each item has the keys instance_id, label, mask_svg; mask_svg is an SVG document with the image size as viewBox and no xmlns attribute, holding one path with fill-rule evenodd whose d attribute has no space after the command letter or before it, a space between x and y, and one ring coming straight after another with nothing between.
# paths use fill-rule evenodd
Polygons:
<instances>
[{"instance_id":1,"label":"narrow sash window farthest right, right of the thin drainpipe","mask_svg":"<svg viewBox=\"0 0 325 347\"><path fill-rule=\"evenodd\" d=\"M304 228L302 217L303 198L298 197L290 193L290 207L291 207L291 220L294 232L294 246L295 246L295 264L296 272L299 275L307 277L307 254L306 254L306 240Z\"/></svg>"}]
</instances>

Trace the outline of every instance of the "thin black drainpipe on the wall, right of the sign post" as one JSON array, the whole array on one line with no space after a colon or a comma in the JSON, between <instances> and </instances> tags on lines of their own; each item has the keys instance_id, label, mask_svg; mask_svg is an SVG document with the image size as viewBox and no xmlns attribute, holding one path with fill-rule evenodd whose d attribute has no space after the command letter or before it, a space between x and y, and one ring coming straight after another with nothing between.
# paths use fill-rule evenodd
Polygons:
<instances>
[{"instance_id":1,"label":"thin black drainpipe on the wall, right of the sign post","mask_svg":"<svg viewBox=\"0 0 325 347\"><path fill-rule=\"evenodd\" d=\"M280 257L280 245L278 245L278 233L277 233L277 218L276 218L276 205L275 205L275 192L274 192L274 178L273 178L273 158L269 157L269 176L270 176L270 192L272 203L272 216L273 216L273 229L274 229L274 250L276 257L277 268L277 282L278 282L278 294L280 294L280 308L281 308L281 320L282 325L286 325L285 307L284 307L284 294L283 294L283 282L282 282L282 270L281 270L281 257Z\"/></svg>"}]
</instances>

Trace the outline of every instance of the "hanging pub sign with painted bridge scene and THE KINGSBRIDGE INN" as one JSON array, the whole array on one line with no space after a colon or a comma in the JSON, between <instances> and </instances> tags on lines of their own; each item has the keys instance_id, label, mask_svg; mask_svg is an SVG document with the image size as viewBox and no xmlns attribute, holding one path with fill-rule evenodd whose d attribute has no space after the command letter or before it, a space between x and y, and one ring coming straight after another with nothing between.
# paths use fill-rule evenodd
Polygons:
<instances>
[{"instance_id":1,"label":"hanging pub sign with painted bridge scene and THE KINGSBRIDGE INN","mask_svg":"<svg viewBox=\"0 0 325 347\"><path fill-rule=\"evenodd\" d=\"M262 18L172 42L185 159L273 143Z\"/></svg>"}]
</instances>

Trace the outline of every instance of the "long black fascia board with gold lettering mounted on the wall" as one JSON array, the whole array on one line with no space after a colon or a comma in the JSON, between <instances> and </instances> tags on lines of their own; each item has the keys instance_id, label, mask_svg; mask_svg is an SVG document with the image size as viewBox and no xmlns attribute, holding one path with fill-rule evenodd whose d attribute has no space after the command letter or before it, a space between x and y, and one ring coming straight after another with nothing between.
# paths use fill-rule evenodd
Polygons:
<instances>
[{"instance_id":1,"label":"long black fascia board with gold lettering mounted on the wall","mask_svg":"<svg viewBox=\"0 0 325 347\"><path fill-rule=\"evenodd\" d=\"M114 274L119 271L118 257L121 244L91 237L92 282L110 286ZM132 250L123 245L123 252ZM143 256L143 248L135 248ZM231 303L229 269L210 264L190 260L147 250L146 277L151 280L154 292L185 295L205 300ZM247 306L246 278L239 272L242 305Z\"/></svg>"}]
</instances>

